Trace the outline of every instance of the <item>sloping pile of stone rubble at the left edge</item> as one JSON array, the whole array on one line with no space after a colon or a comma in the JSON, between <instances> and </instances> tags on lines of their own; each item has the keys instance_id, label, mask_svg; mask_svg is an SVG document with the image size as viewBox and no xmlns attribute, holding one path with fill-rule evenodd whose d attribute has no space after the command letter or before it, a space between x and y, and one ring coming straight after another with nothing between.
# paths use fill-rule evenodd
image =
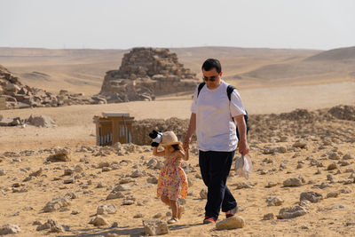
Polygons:
<instances>
[{"instance_id":1,"label":"sloping pile of stone rubble at the left edge","mask_svg":"<svg viewBox=\"0 0 355 237\"><path fill-rule=\"evenodd\" d=\"M12 75L0 65L0 99L3 98L5 105L3 107L1 104L0 109L106 104L105 99L85 97L83 93L70 94L68 91L60 90L59 94L54 94L23 85L19 77Z\"/></svg>"}]
</instances>

